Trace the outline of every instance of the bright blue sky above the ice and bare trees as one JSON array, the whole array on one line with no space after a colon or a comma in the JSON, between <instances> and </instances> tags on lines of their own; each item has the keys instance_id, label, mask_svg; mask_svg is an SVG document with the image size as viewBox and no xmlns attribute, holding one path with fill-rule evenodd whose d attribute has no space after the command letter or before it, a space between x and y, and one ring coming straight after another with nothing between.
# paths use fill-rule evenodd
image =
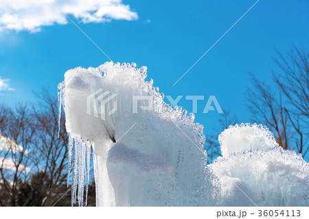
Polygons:
<instances>
[{"instance_id":1,"label":"bright blue sky above the ice and bare trees","mask_svg":"<svg viewBox=\"0 0 309 219\"><path fill-rule=\"evenodd\" d=\"M111 2L109 6L114 6ZM136 62L137 67L146 65L148 79L152 78L165 95L216 95L222 108L238 116L238 122L251 122L244 96L251 86L248 72L271 83L271 71L276 69L271 60L275 56L274 48L284 53L291 43L308 45L309 1L260 0L173 87L255 1L115 2L122 11L91 17L97 19L96 22L86 21L88 16L84 14L76 19L72 15L76 11L71 10L70 5L66 10L73 11L69 17L114 62ZM42 7L58 10L52 3ZM0 16L1 12L3 8ZM48 14L49 10L44 13ZM46 20L50 16L44 13L36 14L34 10L35 21L42 20L37 26L14 23L9 26L8 20L3 23L0 19L1 102L14 105L34 101L33 91L41 87L56 91L68 69L97 67L108 61L62 14L54 13L52 25ZM192 111L191 103L183 97L179 105ZM215 112L202 114L205 104L206 100L199 101L196 122L205 126L207 134L218 130L219 116Z\"/></svg>"}]
</instances>

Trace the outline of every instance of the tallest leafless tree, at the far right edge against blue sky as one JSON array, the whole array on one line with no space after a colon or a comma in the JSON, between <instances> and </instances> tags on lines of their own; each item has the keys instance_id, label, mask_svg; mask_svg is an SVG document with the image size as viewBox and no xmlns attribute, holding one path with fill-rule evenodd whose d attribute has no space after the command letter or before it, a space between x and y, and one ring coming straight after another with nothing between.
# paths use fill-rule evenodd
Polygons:
<instances>
[{"instance_id":1,"label":"tallest leafless tree, at the far right edge against blue sky","mask_svg":"<svg viewBox=\"0 0 309 219\"><path fill-rule=\"evenodd\" d=\"M284 111L295 131L295 148L305 157L309 150L309 52L292 45L287 57L277 54L274 60L282 73L273 72L273 80L287 100Z\"/></svg>"}]
</instances>

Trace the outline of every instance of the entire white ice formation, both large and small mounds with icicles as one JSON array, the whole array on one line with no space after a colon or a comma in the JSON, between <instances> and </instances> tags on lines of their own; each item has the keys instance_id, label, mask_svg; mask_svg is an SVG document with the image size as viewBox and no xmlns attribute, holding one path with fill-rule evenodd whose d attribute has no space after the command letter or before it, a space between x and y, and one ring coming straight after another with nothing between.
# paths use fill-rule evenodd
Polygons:
<instances>
[{"instance_id":1,"label":"entire white ice formation, both large and small mounds with icicles","mask_svg":"<svg viewBox=\"0 0 309 219\"><path fill-rule=\"evenodd\" d=\"M87 200L91 154L98 206L309 205L308 163L263 126L229 127L222 157L205 166L203 126L165 104L146 71L106 62L65 73L72 205Z\"/></svg>"}]
</instances>

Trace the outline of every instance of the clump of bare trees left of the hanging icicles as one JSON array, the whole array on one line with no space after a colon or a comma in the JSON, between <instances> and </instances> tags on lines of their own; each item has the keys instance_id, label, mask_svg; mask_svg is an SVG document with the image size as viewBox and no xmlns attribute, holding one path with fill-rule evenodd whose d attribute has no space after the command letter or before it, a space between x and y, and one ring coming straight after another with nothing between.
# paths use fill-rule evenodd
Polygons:
<instances>
[{"instance_id":1,"label":"clump of bare trees left of the hanging icicles","mask_svg":"<svg viewBox=\"0 0 309 219\"><path fill-rule=\"evenodd\" d=\"M56 94L43 89L36 96L32 107L0 104L0 206L71 205L65 115L58 137ZM88 205L95 205L94 181Z\"/></svg>"}]
</instances>

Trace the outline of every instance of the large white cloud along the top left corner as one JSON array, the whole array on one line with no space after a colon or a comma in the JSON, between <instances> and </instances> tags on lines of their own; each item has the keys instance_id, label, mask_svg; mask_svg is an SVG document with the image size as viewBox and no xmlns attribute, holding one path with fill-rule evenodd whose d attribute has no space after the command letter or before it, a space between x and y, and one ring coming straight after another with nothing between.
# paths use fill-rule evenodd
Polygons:
<instances>
[{"instance_id":1,"label":"large white cloud along the top left corner","mask_svg":"<svg viewBox=\"0 0 309 219\"><path fill-rule=\"evenodd\" d=\"M52 0L62 12L82 23L138 19L136 12L122 0ZM67 17L51 0L0 0L0 31L38 32L42 26L68 23Z\"/></svg>"}]
</instances>

